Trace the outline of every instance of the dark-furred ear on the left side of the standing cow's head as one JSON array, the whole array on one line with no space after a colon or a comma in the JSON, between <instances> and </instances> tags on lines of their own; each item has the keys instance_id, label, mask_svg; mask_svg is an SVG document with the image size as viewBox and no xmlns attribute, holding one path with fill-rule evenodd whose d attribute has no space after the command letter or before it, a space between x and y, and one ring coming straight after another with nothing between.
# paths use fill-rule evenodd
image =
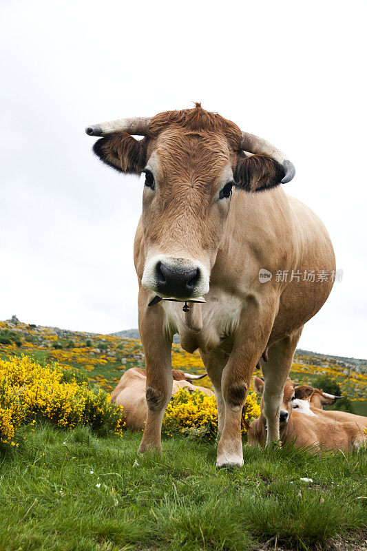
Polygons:
<instances>
[{"instance_id":1,"label":"dark-furred ear on the left side of the standing cow's head","mask_svg":"<svg viewBox=\"0 0 367 551\"><path fill-rule=\"evenodd\" d=\"M97 140L93 151L103 163L125 174L140 174L147 158L147 138L136 140L127 132L114 132Z\"/></svg>"}]
</instances>

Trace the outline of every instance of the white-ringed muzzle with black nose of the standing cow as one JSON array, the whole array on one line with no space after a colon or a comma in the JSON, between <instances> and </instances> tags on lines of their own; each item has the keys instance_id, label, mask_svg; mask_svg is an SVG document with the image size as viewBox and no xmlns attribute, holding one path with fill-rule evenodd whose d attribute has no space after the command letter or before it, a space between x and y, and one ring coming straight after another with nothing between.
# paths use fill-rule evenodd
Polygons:
<instances>
[{"instance_id":1,"label":"white-ringed muzzle with black nose of the standing cow","mask_svg":"<svg viewBox=\"0 0 367 551\"><path fill-rule=\"evenodd\" d=\"M163 298L189 300L209 291L209 273L201 262L156 256L145 265L142 283Z\"/></svg>"}]
</instances>

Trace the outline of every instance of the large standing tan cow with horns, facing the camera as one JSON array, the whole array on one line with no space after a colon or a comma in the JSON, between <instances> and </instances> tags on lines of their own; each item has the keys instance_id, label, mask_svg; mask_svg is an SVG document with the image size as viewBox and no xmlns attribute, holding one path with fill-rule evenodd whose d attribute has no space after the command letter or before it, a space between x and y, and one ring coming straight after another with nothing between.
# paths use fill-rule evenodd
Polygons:
<instances>
[{"instance_id":1,"label":"large standing tan cow with horns, facing the camera","mask_svg":"<svg viewBox=\"0 0 367 551\"><path fill-rule=\"evenodd\" d=\"M103 136L94 152L104 163L145 173L134 245L147 368L140 452L161 449L172 388L171 343L179 333L186 351L199 349L215 389L217 464L241 466L242 406L261 357L269 357L261 360L267 439L279 439L297 341L333 285L331 277L317 284L304 278L307 271L335 270L328 233L310 209L281 189L294 176L286 156L200 105L103 123L88 127L87 134ZM134 134L145 137L138 141ZM266 280L259 275L264 270L271 274ZM198 302L182 309L167 298Z\"/></svg>"}]
</instances>

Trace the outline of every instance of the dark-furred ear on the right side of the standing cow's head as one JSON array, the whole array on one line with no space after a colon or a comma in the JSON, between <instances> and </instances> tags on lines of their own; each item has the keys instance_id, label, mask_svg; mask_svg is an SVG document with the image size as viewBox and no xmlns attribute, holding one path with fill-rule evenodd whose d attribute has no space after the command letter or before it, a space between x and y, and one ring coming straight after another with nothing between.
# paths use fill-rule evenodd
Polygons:
<instances>
[{"instance_id":1,"label":"dark-furred ear on the right side of the standing cow's head","mask_svg":"<svg viewBox=\"0 0 367 551\"><path fill-rule=\"evenodd\" d=\"M241 152L234 180L246 191L261 191L279 185L284 174L284 168L273 157L265 153L247 156Z\"/></svg>"}]
</instances>

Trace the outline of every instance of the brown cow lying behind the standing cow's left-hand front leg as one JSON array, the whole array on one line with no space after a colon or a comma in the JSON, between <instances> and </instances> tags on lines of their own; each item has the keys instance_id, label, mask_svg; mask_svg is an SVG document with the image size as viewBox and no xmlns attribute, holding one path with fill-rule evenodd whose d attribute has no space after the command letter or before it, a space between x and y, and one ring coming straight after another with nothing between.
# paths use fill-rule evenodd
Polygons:
<instances>
[{"instance_id":1,"label":"brown cow lying behind the standing cow's left-hand front leg","mask_svg":"<svg viewBox=\"0 0 367 551\"><path fill-rule=\"evenodd\" d=\"M172 369L172 376L174 377L172 395L176 394L179 388L185 386L192 391L200 390L212 396L213 393L208 388L191 384L191 381L202 379L205 375L207 373L191 375L180 369ZM133 367L123 374L111 396L111 402L123 406L126 415L126 426L132 430L143 430L145 426L148 413L147 400L145 399L146 386L147 375L145 369Z\"/></svg>"}]
</instances>

